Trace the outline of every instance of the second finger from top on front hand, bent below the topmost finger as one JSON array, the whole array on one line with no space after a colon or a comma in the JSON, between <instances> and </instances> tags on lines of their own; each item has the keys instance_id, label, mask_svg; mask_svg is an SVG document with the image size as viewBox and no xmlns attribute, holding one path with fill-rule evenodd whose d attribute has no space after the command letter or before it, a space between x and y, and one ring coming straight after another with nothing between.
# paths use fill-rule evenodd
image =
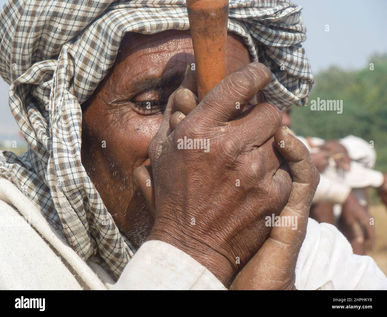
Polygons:
<instances>
[{"instance_id":1,"label":"second finger from top on front hand, bent below the topmost finger","mask_svg":"<svg viewBox=\"0 0 387 317\"><path fill-rule=\"evenodd\" d=\"M251 106L231 121L231 129L246 131L245 137L253 146L261 146L281 125L282 115L270 103ZM231 132L232 133L232 132Z\"/></svg>"}]
</instances>

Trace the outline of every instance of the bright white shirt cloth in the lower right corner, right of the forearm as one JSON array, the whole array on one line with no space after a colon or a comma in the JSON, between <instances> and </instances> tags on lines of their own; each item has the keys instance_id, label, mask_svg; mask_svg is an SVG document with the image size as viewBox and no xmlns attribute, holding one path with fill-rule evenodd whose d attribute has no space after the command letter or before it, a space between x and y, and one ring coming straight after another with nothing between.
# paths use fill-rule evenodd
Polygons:
<instances>
[{"instance_id":1,"label":"bright white shirt cloth in the lower right corner, right of the forearm","mask_svg":"<svg viewBox=\"0 0 387 317\"><path fill-rule=\"evenodd\" d=\"M353 254L336 227L308 221L296 266L296 288L317 290L387 290L387 278L368 256Z\"/></svg>"}]
</instances>

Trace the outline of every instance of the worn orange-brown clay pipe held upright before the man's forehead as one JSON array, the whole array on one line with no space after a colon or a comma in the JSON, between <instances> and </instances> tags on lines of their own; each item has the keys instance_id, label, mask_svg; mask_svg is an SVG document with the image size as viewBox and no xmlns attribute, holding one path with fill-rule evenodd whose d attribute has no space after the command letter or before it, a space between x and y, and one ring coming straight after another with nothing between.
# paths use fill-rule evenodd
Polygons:
<instances>
[{"instance_id":1,"label":"worn orange-brown clay pipe held upright before the man's forehead","mask_svg":"<svg viewBox=\"0 0 387 317\"><path fill-rule=\"evenodd\" d=\"M226 76L228 0L187 0L199 101Z\"/></svg>"}]
</instances>

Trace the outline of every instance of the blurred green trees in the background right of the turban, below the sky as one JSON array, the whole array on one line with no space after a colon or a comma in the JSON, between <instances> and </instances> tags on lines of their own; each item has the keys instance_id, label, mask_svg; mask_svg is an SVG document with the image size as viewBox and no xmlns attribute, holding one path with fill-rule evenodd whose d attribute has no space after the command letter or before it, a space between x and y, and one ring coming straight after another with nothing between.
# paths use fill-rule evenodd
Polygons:
<instances>
[{"instance_id":1,"label":"blurred green trees in the background right of the turban, below the sky","mask_svg":"<svg viewBox=\"0 0 387 317\"><path fill-rule=\"evenodd\" d=\"M373 141L375 168L387 171L387 55L373 55L360 70L330 67L315 75L307 106L293 106L297 135L339 139L349 134ZM311 100L342 100L343 111L311 111Z\"/></svg>"}]
</instances>

